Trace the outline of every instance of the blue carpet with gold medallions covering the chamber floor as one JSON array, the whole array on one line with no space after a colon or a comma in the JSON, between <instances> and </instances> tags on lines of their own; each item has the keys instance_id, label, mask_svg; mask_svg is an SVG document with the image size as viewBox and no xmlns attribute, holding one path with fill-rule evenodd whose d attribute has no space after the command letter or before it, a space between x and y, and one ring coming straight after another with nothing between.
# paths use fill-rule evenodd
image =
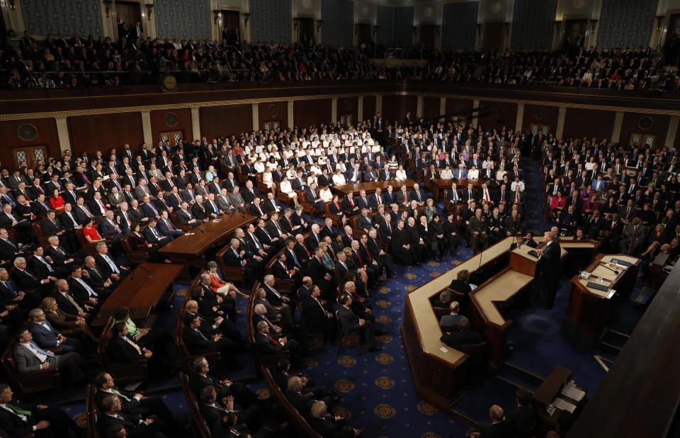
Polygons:
<instances>
[{"instance_id":1,"label":"blue carpet with gold medallions covering the chamber floor","mask_svg":"<svg viewBox=\"0 0 680 438\"><path fill-rule=\"evenodd\" d=\"M538 190L538 163L530 162L525 169L528 187L526 228L543 231L552 224L543 220L542 195ZM379 345L384 347L382 352L363 352L358 355L356 348L344 347L338 356L337 346L320 346L314 350L313 358L305 359L309 369L304 370L304 373L317 384L341 394L342 400L336 412L347 417L350 425L361 429L363 437L465 436L469 428L466 424L416 398L399 332L405 294L472 255L470 249L465 247L459 250L460 255L455 259L447 256L441 263L430 262L421 268L400 267L397 279L385 281L379 291L373 292L371 298L376 324L388 332L388 335L378 338ZM177 284L176 290L186 287L186 284ZM638 285L633 296L640 296L640 291L641 285ZM507 363L542 377L548 376L555 365L562 364L572 369L574 379L587 386L592 393L605 374L594 355L599 354L611 363L616 354L599 350L577 352L567 343L560 330L567 298L568 284L562 280L553 310L541 310L535 305L507 310L508 318L513 320L509 327L509 340L515 344L514 353ZM244 298L238 300L243 312L241 318L244 318L246 301ZM181 297L176 298L174 308L166 310L158 318L159 325L171 333L174 333L180 303ZM642 310L631 301L619 301L612 312L611 325L618 331L630 334L641 315ZM299 318L299 315L296 314L296 317ZM246 369L228 377L243 381L262 398L268 397L263 383L255 379L252 359L243 356L241 361ZM470 379L470 386L455 405L455 410L478 422L487 420L489 405L494 403L506 409L514 408L516 385L535 389L540 381L516 371L513 366L504 366L497 376L487 376L482 381ZM189 420L178 376L163 382L156 389L179 419ZM63 407L78 420L84 420L81 400Z\"/></svg>"}]
</instances>

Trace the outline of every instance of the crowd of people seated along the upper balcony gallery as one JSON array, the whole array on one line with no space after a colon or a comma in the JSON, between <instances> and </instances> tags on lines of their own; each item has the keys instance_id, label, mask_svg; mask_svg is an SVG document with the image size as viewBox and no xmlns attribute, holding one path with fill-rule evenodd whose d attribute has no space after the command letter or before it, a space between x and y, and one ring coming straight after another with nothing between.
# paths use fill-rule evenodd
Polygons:
<instances>
[{"instance_id":1,"label":"crowd of people seated along the upper balcony gallery","mask_svg":"<svg viewBox=\"0 0 680 438\"><path fill-rule=\"evenodd\" d=\"M680 87L673 70L659 70L660 46L587 48L576 40L552 51L424 52L420 47L420 57L428 60L421 67L370 63L368 58L378 53L375 47L252 43L228 28L222 40L213 41L152 40L140 23L120 23L118 40L50 33L38 42L26 30L20 41L0 59L2 84L12 89L155 83L162 72L182 82L430 79L596 89L650 89L650 77L660 72L662 89Z\"/></svg>"}]
</instances>

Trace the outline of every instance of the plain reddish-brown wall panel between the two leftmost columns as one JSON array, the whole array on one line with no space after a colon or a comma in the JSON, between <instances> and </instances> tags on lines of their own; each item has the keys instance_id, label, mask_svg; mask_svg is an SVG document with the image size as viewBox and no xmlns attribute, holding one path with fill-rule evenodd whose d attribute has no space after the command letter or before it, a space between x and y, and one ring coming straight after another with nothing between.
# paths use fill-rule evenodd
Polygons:
<instances>
[{"instance_id":1,"label":"plain reddish-brown wall panel between the two leftmost columns","mask_svg":"<svg viewBox=\"0 0 680 438\"><path fill-rule=\"evenodd\" d=\"M140 113L69 117L68 125L74 154L85 150L94 155L101 150L106 156L109 150L121 149L125 143L139 150L144 142Z\"/></svg>"}]
</instances>

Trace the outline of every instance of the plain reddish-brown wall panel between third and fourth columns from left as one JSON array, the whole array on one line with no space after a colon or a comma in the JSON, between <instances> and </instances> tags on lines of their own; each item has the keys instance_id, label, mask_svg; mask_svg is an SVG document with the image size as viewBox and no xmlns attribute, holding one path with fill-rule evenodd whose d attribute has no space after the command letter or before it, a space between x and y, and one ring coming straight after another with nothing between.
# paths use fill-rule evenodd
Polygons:
<instances>
[{"instance_id":1,"label":"plain reddish-brown wall panel between third and fourth columns from left","mask_svg":"<svg viewBox=\"0 0 680 438\"><path fill-rule=\"evenodd\" d=\"M208 139L249 133L253 129L253 110L250 105L206 106L200 108L199 116L200 132Z\"/></svg>"}]
</instances>

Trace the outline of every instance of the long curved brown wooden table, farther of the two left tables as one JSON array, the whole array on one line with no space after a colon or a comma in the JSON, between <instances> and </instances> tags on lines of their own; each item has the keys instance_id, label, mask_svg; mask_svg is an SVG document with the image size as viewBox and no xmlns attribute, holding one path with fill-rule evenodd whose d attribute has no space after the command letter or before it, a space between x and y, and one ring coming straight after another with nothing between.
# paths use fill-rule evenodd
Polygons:
<instances>
[{"instance_id":1,"label":"long curved brown wooden table, farther of the two left tables","mask_svg":"<svg viewBox=\"0 0 680 438\"><path fill-rule=\"evenodd\" d=\"M191 264L197 264L198 259L210 248L224 245L234 230L237 228L245 230L248 224L254 222L255 219L255 216L242 216L239 213L234 213L231 217L222 215L216 220L203 223L190 232L177 237L168 245L159 249L158 252L170 259L173 264L183 266L179 278L181 281L190 281L189 266Z\"/></svg>"}]
</instances>

